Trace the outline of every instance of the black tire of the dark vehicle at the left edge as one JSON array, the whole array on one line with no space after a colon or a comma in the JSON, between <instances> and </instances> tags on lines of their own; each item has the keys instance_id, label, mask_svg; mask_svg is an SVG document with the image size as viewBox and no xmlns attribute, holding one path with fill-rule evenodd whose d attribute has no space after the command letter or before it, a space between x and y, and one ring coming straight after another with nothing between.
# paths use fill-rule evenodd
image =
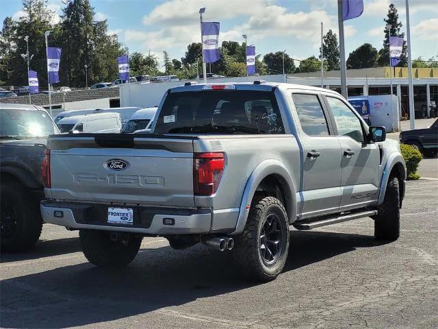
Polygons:
<instances>
[{"instance_id":1,"label":"black tire of the dark vehicle at the left edge","mask_svg":"<svg viewBox=\"0 0 438 329\"><path fill-rule=\"evenodd\" d=\"M42 230L39 200L31 197L25 186L18 182L3 182L0 199L1 251L25 252L34 247ZM7 230L7 221L12 223L12 231Z\"/></svg>"}]
</instances>

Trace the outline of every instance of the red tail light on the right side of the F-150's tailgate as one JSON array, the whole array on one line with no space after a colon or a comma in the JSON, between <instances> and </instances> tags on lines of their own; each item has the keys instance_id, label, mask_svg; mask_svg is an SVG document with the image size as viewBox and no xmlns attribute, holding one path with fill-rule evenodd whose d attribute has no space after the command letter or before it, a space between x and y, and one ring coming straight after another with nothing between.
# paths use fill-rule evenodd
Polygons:
<instances>
[{"instance_id":1,"label":"red tail light on the right side of the F-150's tailgate","mask_svg":"<svg viewBox=\"0 0 438 329\"><path fill-rule=\"evenodd\" d=\"M224 154L195 153L193 157L194 195L214 195L224 172Z\"/></svg>"}]
</instances>

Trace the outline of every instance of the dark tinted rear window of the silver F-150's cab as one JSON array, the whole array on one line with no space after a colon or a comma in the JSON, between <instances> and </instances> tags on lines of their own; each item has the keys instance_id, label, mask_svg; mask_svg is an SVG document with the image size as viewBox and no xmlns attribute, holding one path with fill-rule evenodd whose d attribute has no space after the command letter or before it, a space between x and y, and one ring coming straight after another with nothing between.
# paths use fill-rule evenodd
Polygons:
<instances>
[{"instance_id":1,"label":"dark tinted rear window of the silver F-150's cab","mask_svg":"<svg viewBox=\"0 0 438 329\"><path fill-rule=\"evenodd\" d=\"M273 93L206 90L170 93L156 134L284 134Z\"/></svg>"}]
</instances>

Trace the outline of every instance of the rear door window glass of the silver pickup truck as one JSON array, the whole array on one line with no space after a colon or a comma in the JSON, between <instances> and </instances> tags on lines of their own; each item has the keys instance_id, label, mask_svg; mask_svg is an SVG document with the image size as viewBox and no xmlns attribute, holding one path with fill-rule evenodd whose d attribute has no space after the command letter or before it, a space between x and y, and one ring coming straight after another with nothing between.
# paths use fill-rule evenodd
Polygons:
<instances>
[{"instance_id":1,"label":"rear door window glass of the silver pickup truck","mask_svg":"<svg viewBox=\"0 0 438 329\"><path fill-rule=\"evenodd\" d=\"M316 95L292 94L302 130L309 136L329 136L329 126Z\"/></svg>"}]
</instances>

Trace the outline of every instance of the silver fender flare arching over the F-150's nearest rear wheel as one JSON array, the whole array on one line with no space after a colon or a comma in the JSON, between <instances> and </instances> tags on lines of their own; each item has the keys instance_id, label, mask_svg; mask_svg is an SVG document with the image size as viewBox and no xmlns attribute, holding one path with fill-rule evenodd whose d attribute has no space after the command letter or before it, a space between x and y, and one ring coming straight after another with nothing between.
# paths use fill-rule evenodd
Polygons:
<instances>
[{"instance_id":1,"label":"silver fender flare arching over the F-150's nearest rear wheel","mask_svg":"<svg viewBox=\"0 0 438 329\"><path fill-rule=\"evenodd\" d=\"M239 217L237 218L235 230L231 234L234 235L243 232L246 219L248 219L249 207L253 201L257 186L259 186L264 178L272 174L279 175L284 180L283 188L288 188L287 191L285 191L286 204L284 206L289 215L289 223L296 220L296 188L291 175L289 175L289 171L287 171L285 165L279 160L264 160L254 169L246 182L242 202L240 203Z\"/></svg>"}]
</instances>

